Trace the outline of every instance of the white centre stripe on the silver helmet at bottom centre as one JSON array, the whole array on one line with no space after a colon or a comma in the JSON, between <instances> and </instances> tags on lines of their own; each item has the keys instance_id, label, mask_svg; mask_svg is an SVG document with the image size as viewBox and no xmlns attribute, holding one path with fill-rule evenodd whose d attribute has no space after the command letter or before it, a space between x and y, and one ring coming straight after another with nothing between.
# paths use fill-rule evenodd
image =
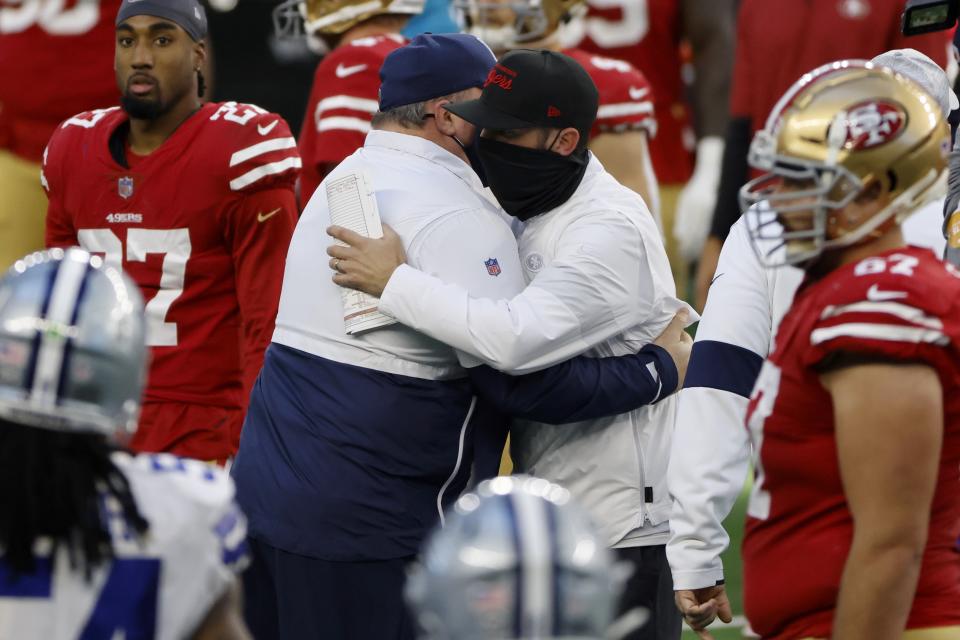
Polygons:
<instances>
[{"instance_id":1,"label":"white centre stripe on the silver helmet at bottom centre","mask_svg":"<svg viewBox=\"0 0 960 640\"><path fill-rule=\"evenodd\" d=\"M526 493L510 495L519 538L517 549L521 568L520 631L524 638L551 635L553 622L553 558L547 503Z\"/></svg>"}]
</instances>

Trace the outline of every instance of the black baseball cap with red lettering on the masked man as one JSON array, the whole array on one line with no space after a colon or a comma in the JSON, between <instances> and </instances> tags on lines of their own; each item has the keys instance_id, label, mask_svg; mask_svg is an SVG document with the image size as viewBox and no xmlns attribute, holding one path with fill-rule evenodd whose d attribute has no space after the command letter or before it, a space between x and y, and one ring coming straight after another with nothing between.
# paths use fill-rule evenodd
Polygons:
<instances>
[{"instance_id":1,"label":"black baseball cap with red lettering on the masked man","mask_svg":"<svg viewBox=\"0 0 960 640\"><path fill-rule=\"evenodd\" d=\"M516 49L490 70L478 99L445 108L482 129L574 127L586 140L599 101L590 75L570 56Z\"/></svg>"}]
</instances>

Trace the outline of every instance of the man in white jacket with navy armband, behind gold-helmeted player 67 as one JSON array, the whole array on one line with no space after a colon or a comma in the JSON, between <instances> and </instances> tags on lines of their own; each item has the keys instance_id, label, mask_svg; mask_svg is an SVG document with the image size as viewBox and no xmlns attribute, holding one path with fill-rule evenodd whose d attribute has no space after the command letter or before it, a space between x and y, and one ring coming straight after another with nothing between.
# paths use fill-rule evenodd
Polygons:
<instances>
[{"instance_id":1,"label":"man in white jacket with navy armband, behind gold-helmeted player 67","mask_svg":"<svg viewBox=\"0 0 960 640\"><path fill-rule=\"evenodd\" d=\"M945 113L957 108L946 74L913 49L871 61L892 68L933 96ZM781 101L791 95L791 90ZM778 112L779 109L774 109ZM943 254L942 200L919 209L903 232L910 244ZM677 606L701 638L716 617L732 617L720 554L730 539L723 520L746 478L750 457L744 427L747 401L776 329L803 278L794 267L765 269L751 245L746 217L730 229L680 393L668 483L673 497L667 556Z\"/></svg>"}]
</instances>

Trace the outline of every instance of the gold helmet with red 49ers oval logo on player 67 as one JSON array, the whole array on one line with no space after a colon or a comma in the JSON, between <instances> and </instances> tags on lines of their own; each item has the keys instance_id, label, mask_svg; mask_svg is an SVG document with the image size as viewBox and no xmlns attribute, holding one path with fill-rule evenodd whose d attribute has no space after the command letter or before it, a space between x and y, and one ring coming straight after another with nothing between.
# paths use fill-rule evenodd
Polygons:
<instances>
[{"instance_id":1,"label":"gold helmet with red 49ers oval logo on player 67","mask_svg":"<svg viewBox=\"0 0 960 640\"><path fill-rule=\"evenodd\" d=\"M805 74L750 146L767 173L741 188L740 207L761 260L809 266L879 236L942 195L949 150L939 104L904 76L862 60ZM844 211L861 197L879 210Z\"/></svg>"}]
</instances>

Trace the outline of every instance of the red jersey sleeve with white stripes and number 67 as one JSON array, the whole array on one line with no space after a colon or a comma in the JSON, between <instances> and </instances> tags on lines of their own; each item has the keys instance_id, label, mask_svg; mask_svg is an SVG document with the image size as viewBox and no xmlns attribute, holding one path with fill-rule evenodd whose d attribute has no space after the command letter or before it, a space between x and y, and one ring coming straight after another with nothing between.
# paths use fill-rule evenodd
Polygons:
<instances>
[{"instance_id":1,"label":"red jersey sleeve with white stripes and number 67","mask_svg":"<svg viewBox=\"0 0 960 640\"><path fill-rule=\"evenodd\" d=\"M804 364L815 367L840 353L922 362L955 382L960 274L951 269L915 248L857 263L826 292Z\"/></svg>"}]
</instances>

